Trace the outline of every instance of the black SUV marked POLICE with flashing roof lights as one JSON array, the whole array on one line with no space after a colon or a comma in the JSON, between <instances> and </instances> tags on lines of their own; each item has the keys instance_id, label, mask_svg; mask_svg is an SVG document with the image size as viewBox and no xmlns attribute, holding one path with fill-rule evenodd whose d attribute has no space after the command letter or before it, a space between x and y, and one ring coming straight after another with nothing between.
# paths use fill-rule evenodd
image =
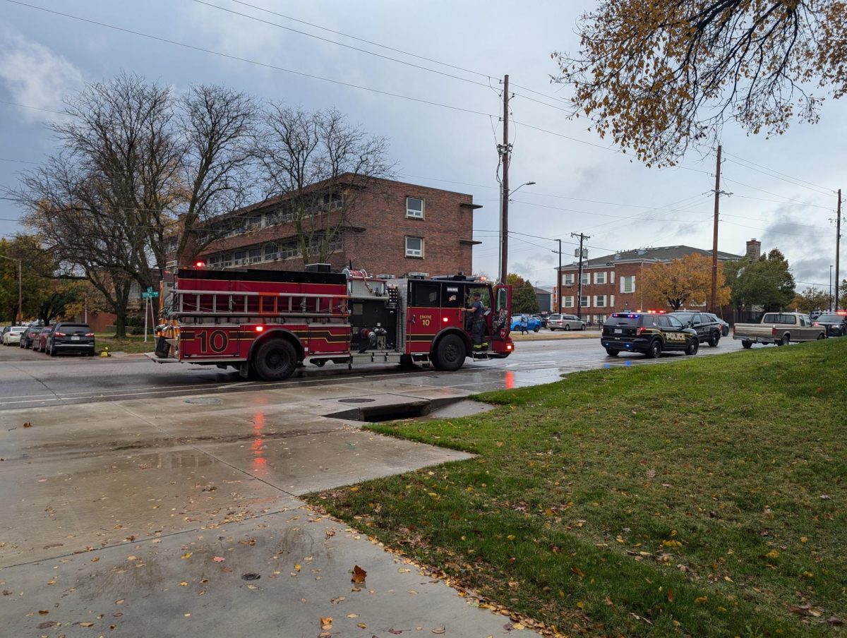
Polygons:
<instances>
[{"instance_id":1,"label":"black SUV marked POLICE with flashing roof lights","mask_svg":"<svg viewBox=\"0 0 847 638\"><path fill-rule=\"evenodd\" d=\"M696 330L671 315L649 312L612 313L603 324L600 342L610 357L617 357L618 352L642 352L657 358L663 351L674 350L691 355L700 347Z\"/></svg>"}]
</instances>

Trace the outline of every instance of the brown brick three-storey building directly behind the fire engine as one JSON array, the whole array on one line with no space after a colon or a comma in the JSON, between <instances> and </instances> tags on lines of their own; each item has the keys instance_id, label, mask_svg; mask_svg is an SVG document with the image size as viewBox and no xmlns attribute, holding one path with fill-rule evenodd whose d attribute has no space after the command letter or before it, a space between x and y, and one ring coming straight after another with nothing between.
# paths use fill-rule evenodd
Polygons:
<instances>
[{"instance_id":1,"label":"brown brick three-storey building directly behind the fire engine","mask_svg":"<svg viewBox=\"0 0 847 638\"><path fill-rule=\"evenodd\" d=\"M311 194L311 195L310 195ZM313 195L313 197L312 197ZM307 189L309 229L320 233L338 225L329 264L371 275L472 270L473 196L393 180L357 183L342 175ZM340 216L343 216L340 217ZM211 222L221 238L202 249L210 268L300 270L304 259L297 241L291 200L274 197Z\"/></svg>"}]
</instances>

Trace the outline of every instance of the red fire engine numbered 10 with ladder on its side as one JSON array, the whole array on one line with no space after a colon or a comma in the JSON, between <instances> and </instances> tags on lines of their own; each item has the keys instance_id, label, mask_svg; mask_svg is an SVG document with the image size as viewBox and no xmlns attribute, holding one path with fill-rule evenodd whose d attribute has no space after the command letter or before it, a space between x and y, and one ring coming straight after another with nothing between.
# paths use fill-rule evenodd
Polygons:
<instances>
[{"instance_id":1,"label":"red fire engine numbered 10 with ladder on its side","mask_svg":"<svg viewBox=\"0 0 847 638\"><path fill-rule=\"evenodd\" d=\"M482 293L483 346L465 308ZM431 362L456 370L465 358L505 358L512 290L464 275L381 279L364 271L180 269L164 281L166 323L154 361L181 361L242 377L286 379L313 363Z\"/></svg>"}]
</instances>

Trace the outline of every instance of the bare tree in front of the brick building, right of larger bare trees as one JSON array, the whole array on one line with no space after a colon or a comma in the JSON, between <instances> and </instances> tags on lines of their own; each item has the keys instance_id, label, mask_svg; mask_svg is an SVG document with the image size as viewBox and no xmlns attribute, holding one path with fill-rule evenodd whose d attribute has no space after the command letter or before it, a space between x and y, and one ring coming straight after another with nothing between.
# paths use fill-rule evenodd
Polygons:
<instances>
[{"instance_id":1,"label":"bare tree in front of the brick building, right of larger bare trees","mask_svg":"<svg viewBox=\"0 0 847 638\"><path fill-rule=\"evenodd\" d=\"M335 250L357 194L390 178L385 137L368 136L337 110L308 112L270 104L254 147L268 195L281 197L306 263Z\"/></svg>"}]
</instances>

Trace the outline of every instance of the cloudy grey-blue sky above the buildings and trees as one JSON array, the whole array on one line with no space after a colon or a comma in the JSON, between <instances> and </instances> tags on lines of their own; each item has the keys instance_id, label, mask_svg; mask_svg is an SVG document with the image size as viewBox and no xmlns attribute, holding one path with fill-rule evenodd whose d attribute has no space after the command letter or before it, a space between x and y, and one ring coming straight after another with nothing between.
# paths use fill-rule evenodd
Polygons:
<instances>
[{"instance_id":1,"label":"cloudy grey-blue sky above the buildings and trees","mask_svg":"<svg viewBox=\"0 0 847 638\"><path fill-rule=\"evenodd\" d=\"M37 7L37 8L36 8ZM55 151L63 98L121 70L180 92L223 84L304 108L335 107L390 139L402 180L473 195L474 270L497 273L501 80L510 76L509 270L551 285L573 261L679 244L711 249L715 157L647 169L567 119L553 51L574 50L590 0L367 3L323 0L0 0L0 186ZM44 10L47 9L47 10ZM847 100L778 139L724 131L718 247L750 238L789 258L798 288L828 289L836 191L847 187ZM33 164L30 164L33 163ZM19 210L0 200L0 235ZM520 233L520 234L518 234ZM842 278L847 263L842 260Z\"/></svg>"}]
</instances>

